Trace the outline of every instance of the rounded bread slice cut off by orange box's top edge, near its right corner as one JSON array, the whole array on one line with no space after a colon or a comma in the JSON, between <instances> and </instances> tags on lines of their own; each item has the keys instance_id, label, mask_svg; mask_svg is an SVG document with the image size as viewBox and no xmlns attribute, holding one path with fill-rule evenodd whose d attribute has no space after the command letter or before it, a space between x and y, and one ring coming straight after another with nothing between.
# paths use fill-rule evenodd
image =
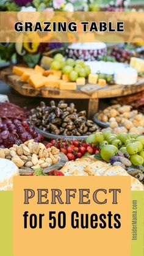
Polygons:
<instances>
[{"instance_id":1,"label":"rounded bread slice cut off by orange box's top edge, near its right corner","mask_svg":"<svg viewBox=\"0 0 144 256\"><path fill-rule=\"evenodd\" d=\"M128 172L121 166L112 166L104 172L104 176L128 176Z\"/></svg>"}]
</instances>

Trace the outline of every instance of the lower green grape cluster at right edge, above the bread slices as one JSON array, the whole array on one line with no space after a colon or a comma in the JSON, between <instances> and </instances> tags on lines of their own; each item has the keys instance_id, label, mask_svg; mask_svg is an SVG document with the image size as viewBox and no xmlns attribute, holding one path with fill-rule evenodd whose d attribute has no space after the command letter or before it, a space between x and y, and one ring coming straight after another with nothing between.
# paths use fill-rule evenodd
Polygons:
<instances>
[{"instance_id":1,"label":"lower green grape cluster at right edge, above the bread slices","mask_svg":"<svg viewBox=\"0 0 144 256\"><path fill-rule=\"evenodd\" d=\"M87 142L99 145L101 157L109 163L118 151L129 155L133 166L144 166L144 136L135 133L112 134L110 131L96 132L88 136Z\"/></svg>"}]
</instances>

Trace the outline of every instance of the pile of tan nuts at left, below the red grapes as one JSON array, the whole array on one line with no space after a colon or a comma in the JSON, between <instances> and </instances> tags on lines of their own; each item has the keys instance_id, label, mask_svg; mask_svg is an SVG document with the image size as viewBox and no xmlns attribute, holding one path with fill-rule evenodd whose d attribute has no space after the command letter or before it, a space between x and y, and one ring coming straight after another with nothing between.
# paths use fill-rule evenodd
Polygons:
<instances>
[{"instance_id":1,"label":"pile of tan nuts at left, below the red grapes","mask_svg":"<svg viewBox=\"0 0 144 256\"><path fill-rule=\"evenodd\" d=\"M42 143L30 140L11 148L0 148L0 158L13 161L19 168L46 168L59 161L59 149L52 146L46 148Z\"/></svg>"}]
</instances>

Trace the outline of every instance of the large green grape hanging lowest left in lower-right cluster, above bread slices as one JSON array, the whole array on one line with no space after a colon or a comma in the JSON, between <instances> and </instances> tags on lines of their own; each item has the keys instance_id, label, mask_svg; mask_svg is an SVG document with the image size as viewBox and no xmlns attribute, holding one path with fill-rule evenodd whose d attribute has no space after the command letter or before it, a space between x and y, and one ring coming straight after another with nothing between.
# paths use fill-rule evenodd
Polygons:
<instances>
[{"instance_id":1,"label":"large green grape hanging lowest left in lower-right cluster, above bread slices","mask_svg":"<svg viewBox=\"0 0 144 256\"><path fill-rule=\"evenodd\" d=\"M117 155L118 148L113 145L105 145L103 148L101 148L101 157L109 163L109 159L111 156Z\"/></svg>"}]
</instances>

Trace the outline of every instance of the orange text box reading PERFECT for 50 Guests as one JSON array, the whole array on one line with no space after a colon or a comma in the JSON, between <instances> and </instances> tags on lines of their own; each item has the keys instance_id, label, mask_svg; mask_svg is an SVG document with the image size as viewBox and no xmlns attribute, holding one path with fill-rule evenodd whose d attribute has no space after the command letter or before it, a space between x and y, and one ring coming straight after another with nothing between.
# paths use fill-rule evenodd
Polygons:
<instances>
[{"instance_id":1,"label":"orange text box reading PERFECT for 50 Guests","mask_svg":"<svg viewBox=\"0 0 144 256\"><path fill-rule=\"evenodd\" d=\"M129 177L16 177L13 213L14 255L129 256L130 183ZM28 199L28 204L25 198L27 190L24 189L34 191L33 195L32 191L28 193L33 196ZM38 189L48 189L47 192L41 191L45 197L40 197ZM59 189L62 193L60 202L54 197L54 193L57 194L54 189ZM68 189L74 190L69 193ZM113 197L113 190L110 192L109 189L121 190L117 191L117 199ZM68 194L74 194L74 197L68 197ZM40 200L42 204L38 204ZM45 214L42 221L39 214ZM117 214L120 214L120 218ZM24 229L24 219L27 229ZM37 226L32 228L36 223L35 219ZM119 219L119 228L116 219ZM52 229L51 226L55 224L56 227Z\"/></svg>"}]
</instances>

